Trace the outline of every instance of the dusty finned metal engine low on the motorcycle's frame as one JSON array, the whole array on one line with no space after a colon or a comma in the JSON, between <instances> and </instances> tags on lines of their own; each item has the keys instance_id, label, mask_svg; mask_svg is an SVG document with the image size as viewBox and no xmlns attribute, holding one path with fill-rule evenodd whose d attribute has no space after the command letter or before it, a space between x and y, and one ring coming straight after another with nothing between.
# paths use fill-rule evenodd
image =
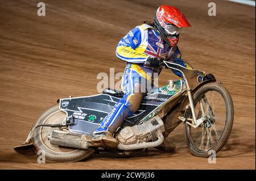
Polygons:
<instances>
[{"instance_id":1,"label":"dusty finned metal engine low on the motorcycle's frame","mask_svg":"<svg viewBox=\"0 0 256 181\"><path fill-rule=\"evenodd\" d=\"M122 145L141 144L142 142L158 140L158 134L164 132L164 123L159 116L133 127L123 128L117 138Z\"/></svg>"}]
</instances>

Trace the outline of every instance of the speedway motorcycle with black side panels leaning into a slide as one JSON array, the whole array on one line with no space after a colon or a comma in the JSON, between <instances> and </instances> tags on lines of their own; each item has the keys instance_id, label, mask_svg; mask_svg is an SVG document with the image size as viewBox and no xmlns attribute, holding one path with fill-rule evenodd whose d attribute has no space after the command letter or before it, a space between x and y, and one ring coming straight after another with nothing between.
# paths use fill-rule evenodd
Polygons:
<instances>
[{"instance_id":1,"label":"speedway motorcycle with black side panels leaning into a slide","mask_svg":"<svg viewBox=\"0 0 256 181\"><path fill-rule=\"evenodd\" d=\"M209 150L222 149L232 130L233 101L222 82L212 74L187 69L163 61L167 69L180 71L182 79L148 92L138 111L123 121L115 133L117 148L94 148L92 133L123 96L122 91L105 89L101 94L57 100L55 106L39 115L32 124L27 140L14 150L38 154L43 150L48 162L75 162L100 151L129 153L155 148L162 144L164 121L174 110L184 122L189 150L197 157L209 157Z\"/></svg>"}]
</instances>

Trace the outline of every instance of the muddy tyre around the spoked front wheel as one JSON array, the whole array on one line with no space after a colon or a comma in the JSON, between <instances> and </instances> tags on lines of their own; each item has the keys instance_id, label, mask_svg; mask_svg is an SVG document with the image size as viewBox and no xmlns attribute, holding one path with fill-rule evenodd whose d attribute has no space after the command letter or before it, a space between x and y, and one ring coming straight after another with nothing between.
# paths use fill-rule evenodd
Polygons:
<instances>
[{"instance_id":1,"label":"muddy tyre around the spoked front wheel","mask_svg":"<svg viewBox=\"0 0 256 181\"><path fill-rule=\"evenodd\" d=\"M212 148L212 150L216 151L216 154L217 154L218 151L220 151L222 149L222 147L225 145L225 143L228 140L229 135L232 131L233 120L234 120L234 106L233 106L233 100L232 100L228 90L226 90L226 88L224 86L222 86L221 83L219 83L219 82L207 83L206 85L200 87L200 89L197 90L193 94L194 103L195 103L195 100L197 98L199 98L200 95L202 93L206 92L207 90L218 91L224 98L225 103L226 103L226 110L228 111L228 113L226 113L226 124L225 124L225 128L224 128L224 132L222 133L220 140ZM192 117L192 113L191 113L191 117ZM211 154L208 154L208 151L199 150L196 148L196 146L191 144L191 141L189 139L190 135L188 132L188 127L190 127L190 126L188 124L184 123L185 138L187 140L188 149L191 151L191 154L195 155L196 157L209 157ZM193 128L191 128L191 129L193 129Z\"/></svg>"}]
</instances>

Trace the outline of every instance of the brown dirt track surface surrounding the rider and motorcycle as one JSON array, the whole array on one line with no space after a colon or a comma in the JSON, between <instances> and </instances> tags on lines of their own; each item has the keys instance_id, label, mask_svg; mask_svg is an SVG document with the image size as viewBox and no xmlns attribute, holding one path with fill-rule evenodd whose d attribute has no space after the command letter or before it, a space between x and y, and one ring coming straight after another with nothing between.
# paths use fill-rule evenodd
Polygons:
<instances>
[{"instance_id":1,"label":"brown dirt track surface surrounding the rider and motorcycle","mask_svg":"<svg viewBox=\"0 0 256 181\"><path fill-rule=\"evenodd\" d=\"M217 16L208 16L203 0L43 2L45 17L36 14L38 1L0 1L0 169L255 169L254 7L216 0ZM183 58L232 94L233 131L217 163L188 152L183 125L170 136L177 145L172 154L38 164L15 153L34 118L57 99L97 94L97 73L123 71L115 46L161 4L179 7L192 24L181 35ZM159 79L162 85L170 74Z\"/></svg>"}]
</instances>

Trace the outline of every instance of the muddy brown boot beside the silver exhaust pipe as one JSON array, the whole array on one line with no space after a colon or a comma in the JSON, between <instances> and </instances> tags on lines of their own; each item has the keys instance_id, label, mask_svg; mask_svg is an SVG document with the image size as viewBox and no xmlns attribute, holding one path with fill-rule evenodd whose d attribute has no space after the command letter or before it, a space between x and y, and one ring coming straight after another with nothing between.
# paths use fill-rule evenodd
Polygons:
<instances>
[{"instance_id":1,"label":"muddy brown boot beside the silver exhaust pipe","mask_svg":"<svg viewBox=\"0 0 256 181\"><path fill-rule=\"evenodd\" d=\"M113 137L111 132L105 131L102 133L94 134L90 143L95 147L109 146L115 148L119 144L119 141L117 138Z\"/></svg>"}]
</instances>

